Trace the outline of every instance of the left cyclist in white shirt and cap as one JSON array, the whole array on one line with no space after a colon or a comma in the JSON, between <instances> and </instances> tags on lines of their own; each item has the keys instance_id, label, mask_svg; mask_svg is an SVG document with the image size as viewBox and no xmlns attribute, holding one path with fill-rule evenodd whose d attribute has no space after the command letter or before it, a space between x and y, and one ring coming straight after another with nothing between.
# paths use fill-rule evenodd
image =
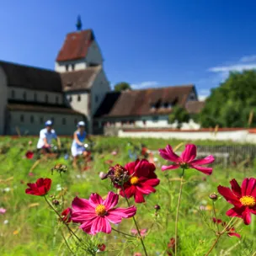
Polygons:
<instances>
[{"instance_id":1,"label":"left cyclist in white shirt and cap","mask_svg":"<svg viewBox=\"0 0 256 256\"><path fill-rule=\"evenodd\" d=\"M56 135L56 131L52 129L53 123L51 120L45 122L45 129L40 131L40 138L37 143L37 148L41 150L43 153L50 153L51 152L51 141L55 139L58 141L58 145L60 141Z\"/></svg>"}]
</instances>

